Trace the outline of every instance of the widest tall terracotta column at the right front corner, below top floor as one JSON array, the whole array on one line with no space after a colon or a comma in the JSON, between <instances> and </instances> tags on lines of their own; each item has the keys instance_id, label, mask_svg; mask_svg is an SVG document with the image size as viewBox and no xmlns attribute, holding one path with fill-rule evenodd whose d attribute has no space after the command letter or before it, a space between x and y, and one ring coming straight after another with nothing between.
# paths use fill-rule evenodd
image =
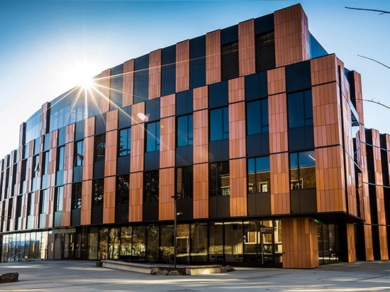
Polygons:
<instances>
[{"instance_id":1,"label":"widest tall terracotta column at the right front corner, below top floor","mask_svg":"<svg viewBox=\"0 0 390 292\"><path fill-rule=\"evenodd\" d=\"M337 73L335 55L311 60L318 212L346 210Z\"/></svg>"}]
</instances>

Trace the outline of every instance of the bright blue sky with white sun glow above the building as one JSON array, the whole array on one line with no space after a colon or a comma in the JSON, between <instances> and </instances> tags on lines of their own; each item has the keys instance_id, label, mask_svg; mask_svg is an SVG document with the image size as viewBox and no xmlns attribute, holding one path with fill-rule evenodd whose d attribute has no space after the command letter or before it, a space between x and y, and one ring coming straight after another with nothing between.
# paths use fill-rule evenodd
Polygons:
<instances>
[{"instance_id":1,"label":"bright blue sky with white sun glow above the building","mask_svg":"<svg viewBox=\"0 0 390 292\"><path fill-rule=\"evenodd\" d=\"M46 101L127 60L301 3L309 30L362 74L364 99L390 106L390 1L0 1L0 157ZM364 103L365 125L390 133L390 110Z\"/></svg>"}]
</instances>

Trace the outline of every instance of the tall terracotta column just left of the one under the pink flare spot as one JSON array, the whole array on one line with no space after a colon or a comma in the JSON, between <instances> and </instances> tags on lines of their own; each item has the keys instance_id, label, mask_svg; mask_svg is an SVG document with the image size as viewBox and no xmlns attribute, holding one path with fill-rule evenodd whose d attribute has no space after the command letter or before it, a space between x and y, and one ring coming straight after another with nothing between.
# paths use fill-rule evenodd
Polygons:
<instances>
[{"instance_id":1,"label":"tall terracotta column just left of the one under the pink flare spot","mask_svg":"<svg viewBox=\"0 0 390 292\"><path fill-rule=\"evenodd\" d=\"M103 223L115 222L116 159L118 152L118 110L107 113L106 159L104 162Z\"/></svg>"}]
</instances>

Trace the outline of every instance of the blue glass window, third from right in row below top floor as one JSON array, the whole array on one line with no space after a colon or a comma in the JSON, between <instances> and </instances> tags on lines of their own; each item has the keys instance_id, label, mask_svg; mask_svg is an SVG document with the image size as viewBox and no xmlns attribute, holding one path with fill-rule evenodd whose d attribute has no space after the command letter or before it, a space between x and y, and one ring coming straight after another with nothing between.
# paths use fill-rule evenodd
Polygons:
<instances>
[{"instance_id":1,"label":"blue glass window, third from right in row below top floor","mask_svg":"<svg viewBox=\"0 0 390 292\"><path fill-rule=\"evenodd\" d=\"M229 138L229 110L228 107L210 111L210 141Z\"/></svg>"}]
</instances>

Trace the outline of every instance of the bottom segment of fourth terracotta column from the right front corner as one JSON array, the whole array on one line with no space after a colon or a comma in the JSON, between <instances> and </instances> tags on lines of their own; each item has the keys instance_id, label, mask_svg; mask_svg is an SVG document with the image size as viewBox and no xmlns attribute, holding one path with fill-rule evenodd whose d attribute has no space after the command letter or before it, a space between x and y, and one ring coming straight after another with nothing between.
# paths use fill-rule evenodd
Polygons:
<instances>
[{"instance_id":1,"label":"bottom segment of fourth terracotta column from the right front corner","mask_svg":"<svg viewBox=\"0 0 390 292\"><path fill-rule=\"evenodd\" d=\"M208 164L194 164L194 219L208 218Z\"/></svg>"}]
</instances>

